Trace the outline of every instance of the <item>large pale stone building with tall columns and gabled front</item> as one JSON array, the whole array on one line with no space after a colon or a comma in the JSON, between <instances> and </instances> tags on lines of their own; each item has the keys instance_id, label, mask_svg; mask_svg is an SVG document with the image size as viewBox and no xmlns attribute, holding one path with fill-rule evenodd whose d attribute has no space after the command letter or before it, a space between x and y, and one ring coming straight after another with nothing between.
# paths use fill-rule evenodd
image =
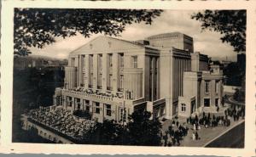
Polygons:
<instances>
[{"instance_id":1,"label":"large pale stone building with tall columns and gabled front","mask_svg":"<svg viewBox=\"0 0 256 157\"><path fill-rule=\"evenodd\" d=\"M208 60L179 32L136 42L99 36L70 53L54 102L98 121L127 121L135 109L166 119L212 111L221 106L223 76Z\"/></svg>"}]
</instances>

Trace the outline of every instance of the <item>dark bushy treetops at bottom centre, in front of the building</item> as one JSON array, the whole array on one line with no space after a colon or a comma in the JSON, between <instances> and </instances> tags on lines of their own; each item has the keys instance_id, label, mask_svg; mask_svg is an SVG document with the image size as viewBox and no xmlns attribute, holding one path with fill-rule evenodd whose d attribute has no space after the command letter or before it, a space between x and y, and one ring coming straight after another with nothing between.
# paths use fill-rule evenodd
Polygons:
<instances>
[{"instance_id":1,"label":"dark bushy treetops at bottom centre, in front of the building","mask_svg":"<svg viewBox=\"0 0 256 157\"><path fill-rule=\"evenodd\" d=\"M160 146L161 124L150 116L147 111L135 111L125 126L108 120L97 123L84 135L84 143Z\"/></svg>"}]
</instances>

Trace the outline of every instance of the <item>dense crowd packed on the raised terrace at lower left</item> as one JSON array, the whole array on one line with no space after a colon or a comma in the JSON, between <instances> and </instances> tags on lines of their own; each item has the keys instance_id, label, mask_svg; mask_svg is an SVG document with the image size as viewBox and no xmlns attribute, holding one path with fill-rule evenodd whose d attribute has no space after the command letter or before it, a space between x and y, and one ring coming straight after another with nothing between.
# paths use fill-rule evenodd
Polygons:
<instances>
[{"instance_id":1,"label":"dense crowd packed on the raised terrace at lower left","mask_svg":"<svg viewBox=\"0 0 256 157\"><path fill-rule=\"evenodd\" d=\"M85 119L84 121L76 121L71 111L61 108L32 109L27 115L34 121L77 139L83 137L90 127L95 125L95 121Z\"/></svg>"}]
</instances>

